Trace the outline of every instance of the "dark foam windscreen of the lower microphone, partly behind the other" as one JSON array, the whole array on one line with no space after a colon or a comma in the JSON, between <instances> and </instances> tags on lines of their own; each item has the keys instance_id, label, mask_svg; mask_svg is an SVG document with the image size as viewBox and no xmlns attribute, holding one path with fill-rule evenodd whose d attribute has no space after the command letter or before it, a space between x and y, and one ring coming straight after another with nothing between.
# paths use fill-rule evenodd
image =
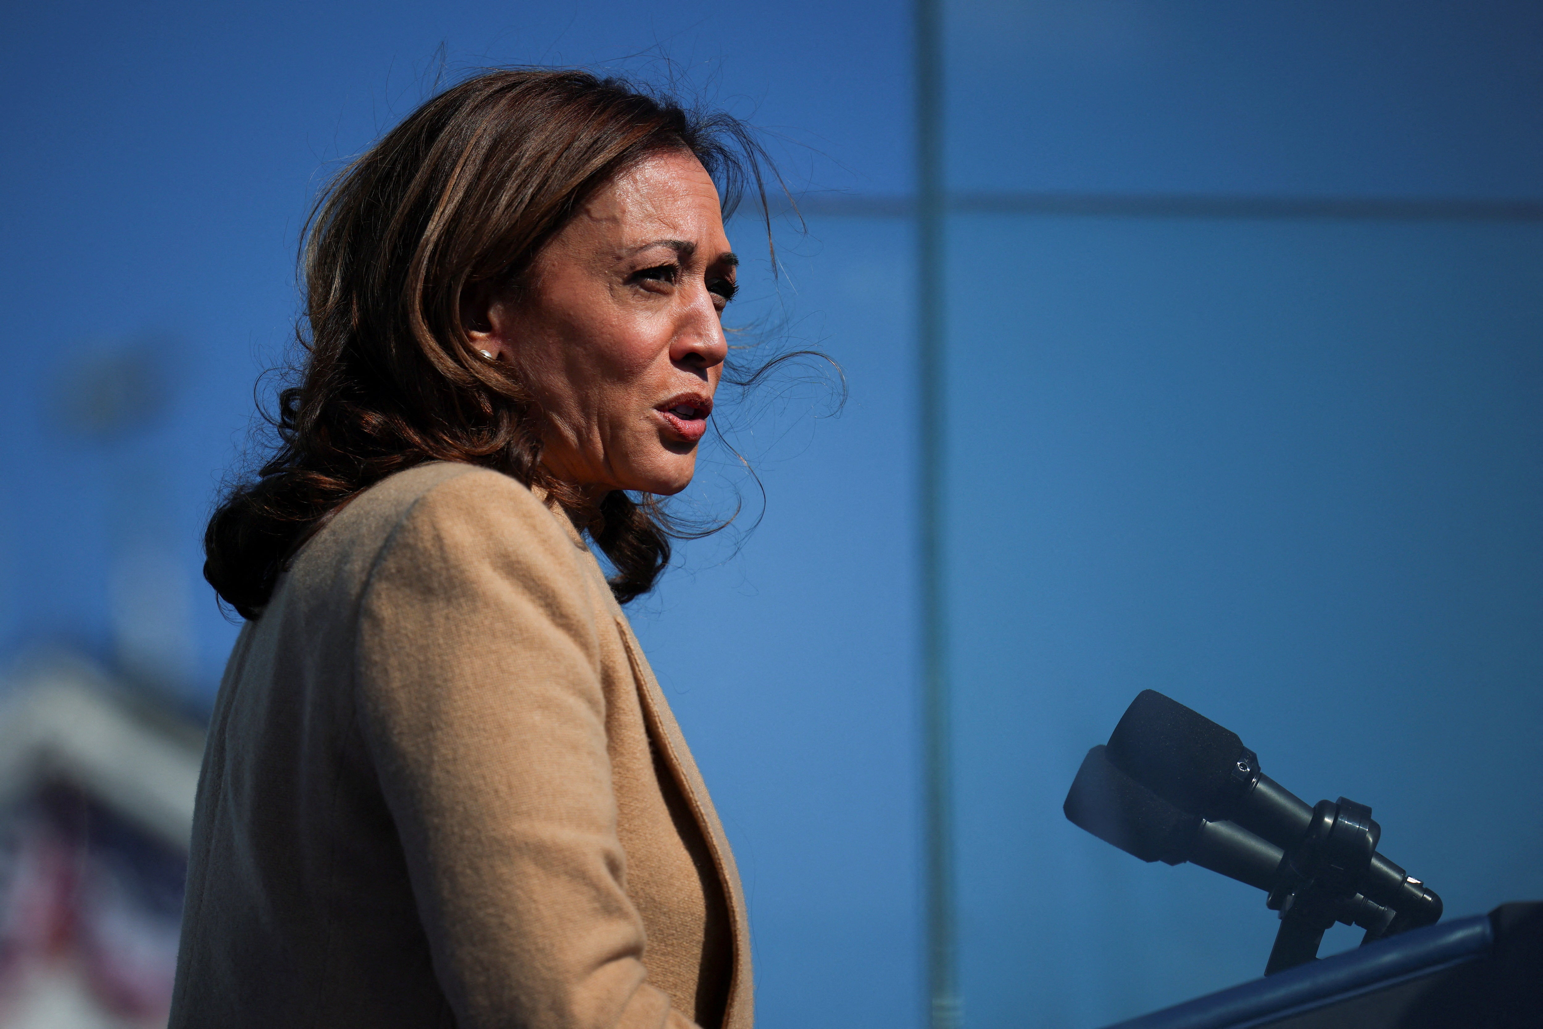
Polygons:
<instances>
[{"instance_id":1,"label":"dark foam windscreen of the lower microphone, partly behind the other","mask_svg":"<svg viewBox=\"0 0 1543 1029\"><path fill-rule=\"evenodd\" d=\"M1082 759L1062 810L1072 824L1142 861L1182 864L1200 828L1199 816L1120 771L1102 745Z\"/></svg>"}]
</instances>

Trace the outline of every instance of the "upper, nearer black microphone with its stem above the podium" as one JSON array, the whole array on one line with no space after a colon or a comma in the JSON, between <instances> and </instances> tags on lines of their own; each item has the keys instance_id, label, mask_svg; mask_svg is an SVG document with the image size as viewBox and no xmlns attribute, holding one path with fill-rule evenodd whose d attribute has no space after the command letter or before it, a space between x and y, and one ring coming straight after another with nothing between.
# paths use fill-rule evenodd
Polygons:
<instances>
[{"instance_id":1,"label":"upper, nearer black microphone with its stem above the podium","mask_svg":"<svg viewBox=\"0 0 1543 1029\"><path fill-rule=\"evenodd\" d=\"M1375 853L1383 830L1370 808L1344 798L1308 807L1259 771L1259 757L1236 733L1177 700L1143 690L1114 727L1108 761L1174 807L1210 822L1236 822L1285 852L1359 832L1369 841L1367 864L1353 870L1355 886L1398 912L1389 932L1441 918L1440 896Z\"/></svg>"}]
</instances>

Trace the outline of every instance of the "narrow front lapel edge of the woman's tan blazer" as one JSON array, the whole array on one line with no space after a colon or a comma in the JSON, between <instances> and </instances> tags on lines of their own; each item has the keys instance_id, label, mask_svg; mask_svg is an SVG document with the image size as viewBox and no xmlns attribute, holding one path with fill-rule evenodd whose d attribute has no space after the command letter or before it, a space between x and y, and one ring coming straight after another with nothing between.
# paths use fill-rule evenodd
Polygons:
<instances>
[{"instance_id":1,"label":"narrow front lapel edge of the woman's tan blazer","mask_svg":"<svg viewBox=\"0 0 1543 1029\"><path fill-rule=\"evenodd\" d=\"M724 835L724 825L719 822L713 801L707 795L707 784L702 782L702 773L697 771L696 761L691 759L691 750L685 745L685 736L680 734L680 727L670 711L670 703L659 688L659 680L654 679L653 668L648 666L648 660L643 657L643 648L639 645L637 637L633 636L633 626L626 623L625 616L616 616L616 625L622 633L622 643L626 646L626 657L633 665L633 677L637 680L637 693L642 697L648 730L659 744L665 764L670 765L680 785L680 791L696 815L697 827L707 839L713 864L717 869L717 881L724 890L724 899L728 904L728 919L734 935L734 970L728 983L728 1006L724 1012L724 1029L750 1029L755 1020L755 986L750 970L750 919L745 909L744 889L739 884L739 869L734 865L734 853L728 847L728 836Z\"/></svg>"}]
</instances>

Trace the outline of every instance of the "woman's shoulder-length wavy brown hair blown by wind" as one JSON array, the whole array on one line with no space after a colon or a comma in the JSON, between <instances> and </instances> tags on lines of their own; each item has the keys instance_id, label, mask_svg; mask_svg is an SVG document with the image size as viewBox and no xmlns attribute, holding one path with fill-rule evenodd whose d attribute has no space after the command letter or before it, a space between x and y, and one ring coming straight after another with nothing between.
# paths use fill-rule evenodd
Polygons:
<instances>
[{"instance_id":1,"label":"woman's shoulder-length wavy brown hair blown by wind","mask_svg":"<svg viewBox=\"0 0 1543 1029\"><path fill-rule=\"evenodd\" d=\"M227 491L204 534L204 577L227 603L256 619L330 514L423 461L494 467L580 509L540 464L531 393L471 347L461 292L517 285L594 190L663 150L702 162L725 218L747 187L765 216L765 151L739 120L583 71L469 79L332 180L304 234L304 361L270 418L276 452ZM670 560L653 498L613 491L585 517L616 599L651 589Z\"/></svg>"}]
</instances>

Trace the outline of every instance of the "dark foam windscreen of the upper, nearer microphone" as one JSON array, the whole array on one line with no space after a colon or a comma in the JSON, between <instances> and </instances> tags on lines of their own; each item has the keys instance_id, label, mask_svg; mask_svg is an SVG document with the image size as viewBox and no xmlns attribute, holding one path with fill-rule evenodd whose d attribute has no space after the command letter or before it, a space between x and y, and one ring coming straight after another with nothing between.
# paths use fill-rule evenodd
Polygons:
<instances>
[{"instance_id":1,"label":"dark foam windscreen of the upper, nearer microphone","mask_svg":"<svg viewBox=\"0 0 1543 1029\"><path fill-rule=\"evenodd\" d=\"M1109 736L1109 761L1165 801L1211 821L1228 818L1237 733L1156 690L1142 690Z\"/></svg>"}]
</instances>

